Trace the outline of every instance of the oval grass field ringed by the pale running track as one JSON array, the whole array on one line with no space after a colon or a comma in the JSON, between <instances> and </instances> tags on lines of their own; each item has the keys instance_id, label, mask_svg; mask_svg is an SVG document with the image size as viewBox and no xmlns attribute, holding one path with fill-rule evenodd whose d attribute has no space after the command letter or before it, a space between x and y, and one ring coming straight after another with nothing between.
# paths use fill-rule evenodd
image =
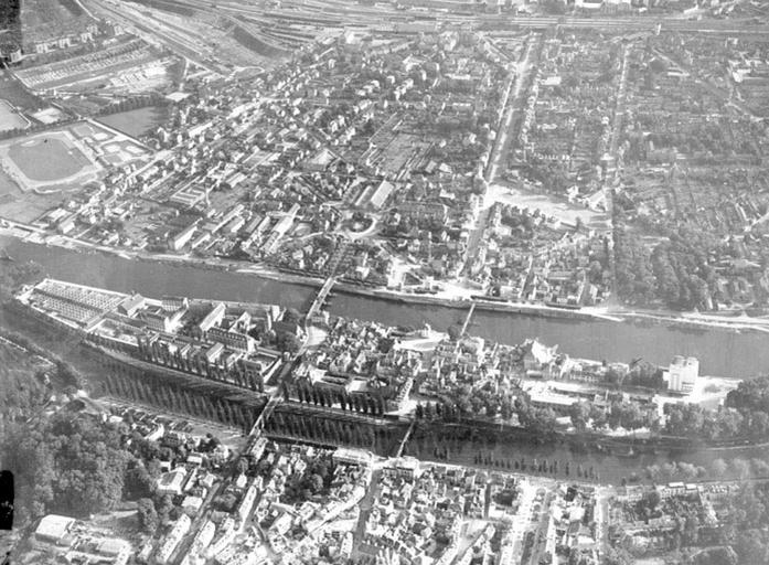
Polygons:
<instances>
[{"instance_id":1,"label":"oval grass field ringed by the pale running track","mask_svg":"<svg viewBox=\"0 0 769 565\"><path fill-rule=\"evenodd\" d=\"M19 141L8 157L33 181L57 181L81 172L90 161L65 137L46 135Z\"/></svg>"}]
</instances>

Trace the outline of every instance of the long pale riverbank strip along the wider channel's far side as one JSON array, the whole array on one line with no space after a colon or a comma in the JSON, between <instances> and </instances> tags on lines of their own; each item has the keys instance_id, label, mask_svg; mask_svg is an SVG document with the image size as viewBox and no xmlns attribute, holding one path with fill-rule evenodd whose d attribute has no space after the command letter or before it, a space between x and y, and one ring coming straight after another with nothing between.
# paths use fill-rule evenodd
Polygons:
<instances>
[{"instance_id":1,"label":"long pale riverbank strip along the wider channel's far side","mask_svg":"<svg viewBox=\"0 0 769 565\"><path fill-rule=\"evenodd\" d=\"M250 275L263 279L278 282L290 282L305 287L319 289L323 286L324 279L312 275L298 275L274 269L264 265L254 265L236 259L220 258L195 258L191 255L174 255L150 252L135 252L117 249L115 247L89 244L67 237L64 235L49 234L34 226L17 224L3 221L0 225L0 235L6 235L21 241L46 245L58 246L74 252L104 253L118 256L128 260L142 260L161 263L167 265L188 266L201 269L214 269L224 271L235 271ZM503 312L510 315L524 315L543 318L570 319L570 320L602 320L609 322L637 322L653 323L667 327L677 327L692 330L706 331L708 328L718 328L728 331L757 331L769 333L769 319L751 318L747 316L723 318L696 312L672 312L661 310L638 311L624 308L608 307L581 307L576 309L558 308L543 303L511 302L485 300L483 298L448 297L434 295L418 295L414 292L398 291L387 288L371 288L349 282L337 282L333 292L341 292L349 296L360 296L375 298L391 302L399 302L415 306L439 306L444 308L468 309L473 303L477 311ZM202 297L201 297L202 298Z\"/></svg>"}]
</instances>

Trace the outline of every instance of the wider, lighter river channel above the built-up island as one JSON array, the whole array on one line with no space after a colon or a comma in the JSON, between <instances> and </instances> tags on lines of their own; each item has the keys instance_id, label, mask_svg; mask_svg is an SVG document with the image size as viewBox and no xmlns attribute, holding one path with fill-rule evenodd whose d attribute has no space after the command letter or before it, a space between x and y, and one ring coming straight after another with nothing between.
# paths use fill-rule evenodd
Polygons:
<instances>
[{"instance_id":1,"label":"wider, lighter river channel above the built-up island","mask_svg":"<svg viewBox=\"0 0 769 565\"><path fill-rule=\"evenodd\" d=\"M252 275L154 262L131 262L103 253L78 253L0 236L17 260L41 264L51 277L150 297L193 298L280 303L299 309L312 300L313 288ZM1 265L0 265L1 268ZM434 305L388 301L360 295L334 294L331 313L391 326L429 323L438 330L461 323L464 311ZM666 364L675 354L699 359L702 374L746 377L769 369L769 339L760 332L718 328L685 329L663 324L574 320L477 310L469 331L488 340L520 343L537 337L558 344L572 356L629 362L643 358Z\"/></svg>"}]
</instances>

